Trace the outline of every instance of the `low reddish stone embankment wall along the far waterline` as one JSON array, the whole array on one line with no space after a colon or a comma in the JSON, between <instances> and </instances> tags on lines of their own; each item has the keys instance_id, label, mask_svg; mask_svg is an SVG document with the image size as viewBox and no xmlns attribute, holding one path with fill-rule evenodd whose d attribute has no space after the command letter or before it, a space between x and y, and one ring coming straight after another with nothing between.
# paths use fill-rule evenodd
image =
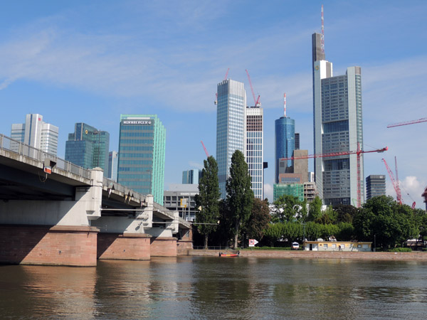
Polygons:
<instances>
[{"instance_id":1,"label":"low reddish stone embankment wall along the far waterline","mask_svg":"<svg viewBox=\"0 0 427 320\"><path fill-rule=\"evenodd\" d=\"M218 256L220 250L189 250L193 256ZM222 250L225 252L225 250ZM290 251L241 250L241 257L274 257L292 259L355 259L355 260L417 260L427 262L427 252L345 252L345 251Z\"/></svg>"}]
</instances>

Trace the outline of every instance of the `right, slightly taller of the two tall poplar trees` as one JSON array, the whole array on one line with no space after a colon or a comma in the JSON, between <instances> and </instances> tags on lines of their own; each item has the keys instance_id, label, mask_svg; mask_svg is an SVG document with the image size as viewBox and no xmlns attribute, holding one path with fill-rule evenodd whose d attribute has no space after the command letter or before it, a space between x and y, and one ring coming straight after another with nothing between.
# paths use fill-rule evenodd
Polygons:
<instances>
[{"instance_id":1,"label":"right, slightly taller of the two tall poplar trees","mask_svg":"<svg viewBox=\"0 0 427 320\"><path fill-rule=\"evenodd\" d=\"M227 204L233 221L234 247L238 247L238 234L241 225L244 225L251 216L253 191L251 190L251 176L248 173L248 164L240 150L231 156L230 176L226 182Z\"/></svg>"}]
</instances>

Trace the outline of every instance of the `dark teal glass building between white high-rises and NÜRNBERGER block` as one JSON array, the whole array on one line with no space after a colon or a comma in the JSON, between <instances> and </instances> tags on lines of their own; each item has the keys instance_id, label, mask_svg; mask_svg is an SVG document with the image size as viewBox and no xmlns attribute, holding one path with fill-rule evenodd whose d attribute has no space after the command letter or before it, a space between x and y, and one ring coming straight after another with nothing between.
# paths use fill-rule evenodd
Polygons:
<instances>
[{"instance_id":1,"label":"dark teal glass building between white high-rises and N\u00dcRNBERGER block","mask_svg":"<svg viewBox=\"0 0 427 320\"><path fill-rule=\"evenodd\" d=\"M78 122L74 126L74 132L68 134L68 141L65 142L65 160L85 169L101 168L107 176L109 148L108 132Z\"/></svg>"}]
</instances>

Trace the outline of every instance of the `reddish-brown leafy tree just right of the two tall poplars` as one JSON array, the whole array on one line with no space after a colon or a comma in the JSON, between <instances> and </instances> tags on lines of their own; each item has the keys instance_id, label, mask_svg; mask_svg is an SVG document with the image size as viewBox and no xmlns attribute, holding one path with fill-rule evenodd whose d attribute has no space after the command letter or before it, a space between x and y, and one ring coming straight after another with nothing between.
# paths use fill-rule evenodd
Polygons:
<instances>
[{"instance_id":1,"label":"reddish-brown leafy tree just right of the two tall poplars","mask_svg":"<svg viewBox=\"0 0 427 320\"><path fill-rule=\"evenodd\" d=\"M260 241L271 220L268 200L253 199L252 213L246 223L245 233L251 239Z\"/></svg>"}]
</instances>

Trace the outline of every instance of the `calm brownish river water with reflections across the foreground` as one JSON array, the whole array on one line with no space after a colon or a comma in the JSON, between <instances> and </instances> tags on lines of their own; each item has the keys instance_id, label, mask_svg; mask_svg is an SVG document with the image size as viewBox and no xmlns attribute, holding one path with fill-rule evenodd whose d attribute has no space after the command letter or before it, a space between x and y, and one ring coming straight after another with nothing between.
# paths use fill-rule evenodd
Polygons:
<instances>
[{"instance_id":1,"label":"calm brownish river water with reflections across the foreground","mask_svg":"<svg viewBox=\"0 0 427 320\"><path fill-rule=\"evenodd\" d=\"M176 257L0 266L0 319L424 319L427 263Z\"/></svg>"}]
</instances>

